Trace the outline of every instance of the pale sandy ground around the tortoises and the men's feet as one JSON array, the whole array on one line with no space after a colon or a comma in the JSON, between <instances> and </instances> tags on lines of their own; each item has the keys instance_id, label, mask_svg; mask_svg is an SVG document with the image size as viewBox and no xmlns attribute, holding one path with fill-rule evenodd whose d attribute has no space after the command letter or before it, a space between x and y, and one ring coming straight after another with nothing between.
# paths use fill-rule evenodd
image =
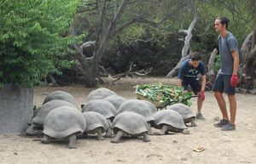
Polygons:
<instances>
[{"instance_id":1,"label":"pale sandy ground around the tortoises and the men's feet","mask_svg":"<svg viewBox=\"0 0 256 164\"><path fill-rule=\"evenodd\" d=\"M134 88L137 83L162 82L172 84L174 79L125 78L115 85L104 85L127 99L136 99ZM41 105L46 93L64 90L72 93L79 104L95 88L83 86L45 87L34 89L34 104ZM227 97L225 96L227 100ZM151 142L142 139L123 139L119 144L110 139L78 139L77 149L67 149L67 142L41 144L36 137L16 133L0 134L0 163L20 164L95 164L95 163L256 163L256 96L236 94L236 131L222 132L212 124L221 116L212 92L206 93L203 105L205 121L197 121L197 127L189 127L190 134L150 136ZM195 99L192 108L196 112ZM227 101L228 102L228 101ZM205 150L195 152L203 146Z\"/></svg>"}]
</instances>

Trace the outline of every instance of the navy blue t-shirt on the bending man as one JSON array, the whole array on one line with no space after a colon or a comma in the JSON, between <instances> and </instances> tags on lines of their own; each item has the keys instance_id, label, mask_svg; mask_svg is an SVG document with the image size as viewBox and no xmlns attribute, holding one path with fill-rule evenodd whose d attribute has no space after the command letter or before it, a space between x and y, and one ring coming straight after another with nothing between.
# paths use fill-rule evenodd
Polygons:
<instances>
[{"instance_id":1,"label":"navy blue t-shirt on the bending man","mask_svg":"<svg viewBox=\"0 0 256 164\"><path fill-rule=\"evenodd\" d=\"M186 59L182 62L177 77L183 81L189 81L189 82L196 81L198 74L201 74L202 76L206 74L205 66L200 61L198 67L195 68L194 66L189 65L189 60L190 59Z\"/></svg>"}]
</instances>

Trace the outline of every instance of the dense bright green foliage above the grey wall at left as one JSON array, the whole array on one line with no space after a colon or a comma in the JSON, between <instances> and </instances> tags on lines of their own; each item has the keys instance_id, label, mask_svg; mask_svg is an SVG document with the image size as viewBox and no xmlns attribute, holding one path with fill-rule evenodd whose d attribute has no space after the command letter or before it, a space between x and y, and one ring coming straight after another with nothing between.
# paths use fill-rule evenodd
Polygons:
<instances>
[{"instance_id":1,"label":"dense bright green foliage above the grey wall at left","mask_svg":"<svg viewBox=\"0 0 256 164\"><path fill-rule=\"evenodd\" d=\"M2 0L0 84L38 85L50 72L71 63L64 58L69 25L78 0Z\"/></svg>"}]
</instances>

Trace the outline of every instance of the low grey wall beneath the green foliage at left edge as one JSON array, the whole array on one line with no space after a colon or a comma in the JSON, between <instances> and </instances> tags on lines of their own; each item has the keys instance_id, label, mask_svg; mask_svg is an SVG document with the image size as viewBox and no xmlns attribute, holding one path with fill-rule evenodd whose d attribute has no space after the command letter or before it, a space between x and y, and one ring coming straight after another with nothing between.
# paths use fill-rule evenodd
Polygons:
<instances>
[{"instance_id":1,"label":"low grey wall beneath the green foliage at left edge","mask_svg":"<svg viewBox=\"0 0 256 164\"><path fill-rule=\"evenodd\" d=\"M14 85L0 88L0 133L22 133L32 118L33 90Z\"/></svg>"}]
</instances>

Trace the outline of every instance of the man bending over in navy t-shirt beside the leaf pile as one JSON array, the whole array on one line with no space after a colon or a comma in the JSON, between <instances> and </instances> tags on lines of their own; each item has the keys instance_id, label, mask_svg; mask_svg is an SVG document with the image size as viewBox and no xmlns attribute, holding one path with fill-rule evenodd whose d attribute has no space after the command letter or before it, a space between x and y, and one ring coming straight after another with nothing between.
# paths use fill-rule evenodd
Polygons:
<instances>
[{"instance_id":1,"label":"man bending over in navy t-shirt beside the leaf pile","mask_svg":"<svg viewBox=\"0 0 256 164\"><path fill-rule=\"evenodd\" d=\"M197 75L201 74L201 82L197 78ZM206 88L206 73L205 66L201 62L201 54L195 52L190 54L190 59L186 59L182 62L178 72L177 87L183 87L185 91L188 91L188 87L193 89L193 92L197 95L197 120L204 120L201 115L201 107L203 100L205 99Z\"/></svg>"}]
</instances>

